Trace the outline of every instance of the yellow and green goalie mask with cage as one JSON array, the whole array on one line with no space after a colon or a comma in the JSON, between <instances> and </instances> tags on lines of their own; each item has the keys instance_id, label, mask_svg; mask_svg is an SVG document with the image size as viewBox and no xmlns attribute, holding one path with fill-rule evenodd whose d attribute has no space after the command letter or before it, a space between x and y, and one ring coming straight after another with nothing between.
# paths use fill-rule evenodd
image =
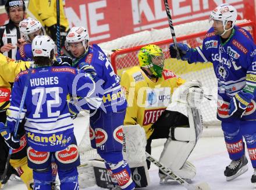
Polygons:
<instances>
[{"instance_id":1,"label":"yellow and green goalie mask with cage","mask_svg":"<svg viewBox=\"0 0 256 190\"><path fill-rule=\"evenodd\" d=\"M141 47L140 53L138 53L140 67L148 68L158 78L162 77L163 58L162 49L157 45Z\"/></svg>"}]
</instances>

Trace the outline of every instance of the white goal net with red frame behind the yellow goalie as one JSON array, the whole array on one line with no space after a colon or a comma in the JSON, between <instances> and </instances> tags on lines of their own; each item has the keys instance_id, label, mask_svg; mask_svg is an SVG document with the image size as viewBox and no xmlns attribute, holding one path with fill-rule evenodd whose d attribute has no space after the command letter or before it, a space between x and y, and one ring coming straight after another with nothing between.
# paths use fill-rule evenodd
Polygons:
<instances>
[{"instance_id":1,"label":"white goal net with red frame behind the yellow goalie","mask_svg":"<svg viewBox=\"0 0 256 190\"><path fill-rule=\"evenodd\" d=\"M256 37L256 28L253 22L239 20L236 24L250 31L251 35ZM176 25L174 28L177 42L187 43L191 47L196 47L202 45L202 41L210 25L208 20L203 20ZM174 71L177 76L187 81L192 79L201 81L205 94L213 96L213 100L211 101L204 98L201 105L204 127L207 129L204 129L203 136L222 135L220 122L216 119L217 79L212 63L188 64L187 61L170 59L169 45L172 42L170 28L168 27L161 30L152 29L150 31L142 31L123 36L113 41L100 43L99 46L108 54L113 68L119 76L121 76L122 72L127 70L127 68L139 65L138 52L141 47L151 43L160 46L165 55L166 69ZM88 138L88 136L86 138ZM90 141L88 139L83 139L80 145L82 145L82 147L80 147L82 152L84 152L85 149L91 151ZM91 152L90 155L92 155Z\"/></svg>"}]
</instances>

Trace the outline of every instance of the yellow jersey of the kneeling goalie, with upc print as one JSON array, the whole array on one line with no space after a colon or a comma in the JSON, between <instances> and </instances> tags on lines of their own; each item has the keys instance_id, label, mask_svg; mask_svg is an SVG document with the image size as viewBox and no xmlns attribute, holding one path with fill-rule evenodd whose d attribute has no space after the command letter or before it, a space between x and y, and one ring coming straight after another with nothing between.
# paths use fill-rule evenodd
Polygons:
<instances>
[{"instance_id":1,"label":"yellow jersey of the kneeling goalie, with upc print","mask_svg":"<svg viewBox=\"0 0 256 190\"><path fill-rule=\"evenodd\" d=\"M148 139L153 132L152 124L168 107L173 90L184 82L170 70L163 70L162 78L157 81L148 78L140 67L123 72L120 83L128 103L124 125L139 124L144 127Z\"/></svg>"}]
</instances>

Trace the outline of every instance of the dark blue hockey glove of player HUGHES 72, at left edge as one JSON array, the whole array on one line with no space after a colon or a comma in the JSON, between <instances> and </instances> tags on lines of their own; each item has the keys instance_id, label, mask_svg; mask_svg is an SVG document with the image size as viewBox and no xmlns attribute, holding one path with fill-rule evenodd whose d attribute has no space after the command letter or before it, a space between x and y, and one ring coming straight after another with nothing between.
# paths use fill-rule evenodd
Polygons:
<instances>
[{"instance_id":1,"label":"dark blue hockey glove of player HUGHES 72, at left edge","mask_svg":"<svg viewBox=\"0 0 256 190\"><path fill-rule=\"evenodd\" d=\"M5 126L4 123L0 122L0 133L1 136L5 139L6 144L8 147L12 149L17 149L20 147L20 140L14 139L12 134L10 134L10 129Z\"/></svg>"}]
</instances>

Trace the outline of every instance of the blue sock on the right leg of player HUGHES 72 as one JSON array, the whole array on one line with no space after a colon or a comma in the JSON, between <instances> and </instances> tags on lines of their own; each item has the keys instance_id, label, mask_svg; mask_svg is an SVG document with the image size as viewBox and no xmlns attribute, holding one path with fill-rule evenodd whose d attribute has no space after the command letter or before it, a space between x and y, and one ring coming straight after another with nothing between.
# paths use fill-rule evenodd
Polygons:
<instances>
[{"instance_id":1,"label":"blue sock on the right leg of player HUGHES 72","mask_svg":"<svg viewBox=\"0 0 256 190\"><path fill-rule=\"evenodd\" d=\"M77 167L70 170L59 170L59 181L61 181L61 189L79 189Z\"/></svg>"}]
</instances>

